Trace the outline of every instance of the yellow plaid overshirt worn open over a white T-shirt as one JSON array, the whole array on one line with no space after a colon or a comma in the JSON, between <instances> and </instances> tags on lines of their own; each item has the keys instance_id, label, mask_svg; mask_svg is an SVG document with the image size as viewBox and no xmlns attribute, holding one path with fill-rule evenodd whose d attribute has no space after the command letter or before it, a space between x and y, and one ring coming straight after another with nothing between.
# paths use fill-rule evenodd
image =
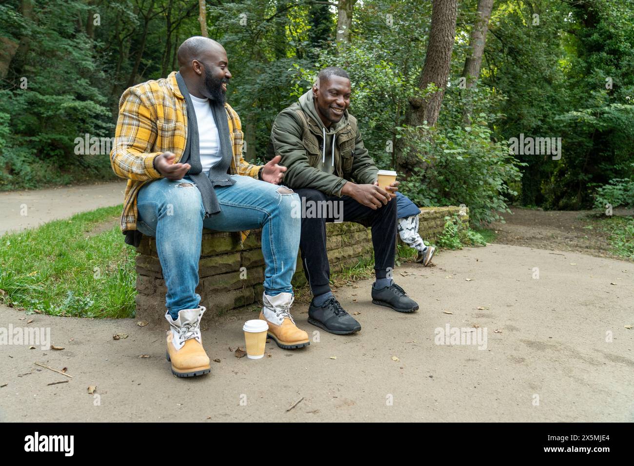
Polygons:
<instances>
[{"instance_id":1,"label":"yellow plaid overshirt worn open over a white T-shirt","mask_svg":"<svg viewBox=\"0 0 634 466\"><path fill-rule=\"evenodd\" d=\"M242 124L238 113L225 104L233 159L229 173L257 178L261 165L242 158ZM119 119L110 164L120 178L127 179L121 230L136 230L136 197L146 183L162 178L154 169L154 159L163 152L174 152L174 163L183 157L187 141L187 112L183 94L176 82L176 72L158 81L129 87L119 101ZM242 232L242 240L249 234Z\"/></svg>"}]
</instances>

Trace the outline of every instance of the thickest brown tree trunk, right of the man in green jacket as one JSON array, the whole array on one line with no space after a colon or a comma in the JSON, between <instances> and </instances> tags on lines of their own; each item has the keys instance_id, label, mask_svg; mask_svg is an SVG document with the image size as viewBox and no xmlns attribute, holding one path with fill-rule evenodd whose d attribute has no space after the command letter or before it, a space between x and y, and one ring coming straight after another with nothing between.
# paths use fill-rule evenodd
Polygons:
<instances>
[{"instance_id":1,"label":"thickest brown tree trunk, right of the man in green jacket","mask_svg":"<svg viewBox=\"0 0 634 466\"><path fill-rule=\"evenodd\" d=\"M424 121L427 121L429 126L436 124L451 67L457 14L457 0L434 1L429 44L425 64L418 78L418 88L423 91L433 82L440 90L427 98L410 99L410 111L406 118L408 125L419 126Z\"/></svg>"}]
</instances>

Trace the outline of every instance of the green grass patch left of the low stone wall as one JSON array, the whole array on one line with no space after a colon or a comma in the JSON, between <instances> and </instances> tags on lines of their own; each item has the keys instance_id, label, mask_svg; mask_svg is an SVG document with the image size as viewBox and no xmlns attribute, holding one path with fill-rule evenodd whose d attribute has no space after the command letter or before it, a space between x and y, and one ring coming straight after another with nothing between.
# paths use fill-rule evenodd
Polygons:
<instances>
[{"instance_id":1,"label":"green grass patch left of the low stone wall","mask_svg":"<svg viewBox=\"0 0 634 466\"><path fill-rule=\"evenodd\" d=\"M113 222L122 206L104 207L33 230L0 236L0 301L29 313L134 316L134 248Z\"/></svg>"}]
</instances>

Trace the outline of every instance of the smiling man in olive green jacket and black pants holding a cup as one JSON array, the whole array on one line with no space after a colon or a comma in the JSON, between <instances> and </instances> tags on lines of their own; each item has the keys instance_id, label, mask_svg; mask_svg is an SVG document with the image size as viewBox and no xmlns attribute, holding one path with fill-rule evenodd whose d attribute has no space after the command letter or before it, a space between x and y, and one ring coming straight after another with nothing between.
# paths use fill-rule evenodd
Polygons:
<instances>
[{"instance_id":1,"label":"smiling man in olive green jacket and black pants holding a cup","mask_svg":"<svg viewBox=\"0 0 634 466\"><path fill-rule=\"evenodd\" d=\"M300 248L313 301L308 321L327 332L361 330L330 291L326 223L372 227L376 282L372 302L410 313L418 304L392 280L396 249L396 191L378 187L378 169L363 145L357 120L347 112L351 84L342 68L320 71L313 88L278 114L267 157L281 156L284 182L301 198ZM389 192L388 192L389 191ZM316 207L316 208L315 208Z\"/></svg>"}]
</instances>

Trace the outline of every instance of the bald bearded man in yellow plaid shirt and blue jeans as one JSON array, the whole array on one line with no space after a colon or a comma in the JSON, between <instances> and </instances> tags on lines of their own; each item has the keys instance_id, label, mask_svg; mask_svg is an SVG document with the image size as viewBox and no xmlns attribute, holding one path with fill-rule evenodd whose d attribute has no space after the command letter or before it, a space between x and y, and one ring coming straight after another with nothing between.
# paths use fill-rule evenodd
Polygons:
<instances>
[{"instance_id":1,"label":"bald bearded man in yellow plaid shirt and blue jeans","mask_svg":"<svg viewBox=\"0 0 634 466\"><path fill-rule=\"evenodd\" d=\"M167 294L166 358L177 377L210 372L202 346L198 260L202 229L262 229L264 294L260 318L282 348L309 345L290 314L301 219L297 194L283 186L280 157L266 165L242 158L240 118L225 102L226 51L206 37L178 49L179 71L127 89L119 103L113 171L126 178L121 229L126 243L155 236ZM207 302L209 302L207 297Z\"/></svg>"}]
</instances>

